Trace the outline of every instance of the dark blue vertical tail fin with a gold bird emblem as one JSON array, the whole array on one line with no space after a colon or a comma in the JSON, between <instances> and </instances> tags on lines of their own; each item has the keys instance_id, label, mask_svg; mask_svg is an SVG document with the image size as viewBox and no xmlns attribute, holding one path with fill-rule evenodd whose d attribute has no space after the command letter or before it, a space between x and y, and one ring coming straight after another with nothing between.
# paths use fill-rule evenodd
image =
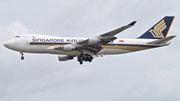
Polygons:
<instances>
[{"instance_id":1,"label":"dark blue vertical tail fin with a gold bird emblem","mask_svg":"<svg viewBox=\"0 0 180 101\"><path fill-rule=\"evenodd\" d=\"M139 38L144 39L162 39L167 37L169 29L174 20L174 16L165 16L147 32L141 35Z\"/></svg>"}]
</instances>

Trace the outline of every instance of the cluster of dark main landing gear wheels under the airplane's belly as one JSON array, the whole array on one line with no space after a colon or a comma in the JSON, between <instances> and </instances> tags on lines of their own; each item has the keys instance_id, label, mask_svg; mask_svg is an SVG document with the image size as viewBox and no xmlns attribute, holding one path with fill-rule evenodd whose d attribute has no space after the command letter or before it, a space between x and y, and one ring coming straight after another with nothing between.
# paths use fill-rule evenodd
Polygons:
<instances>
[{"instance_id":1,"label":"cluster of dark main landing gear wheels under the airplane's belly","mask_svg":"<svg viewBox=\"0 0 180 101\"><path fill-rule=\"evenodd\" d=\"M91 62L93 60L93 57L89 54L80 54L78 57L77 57L78 61L80 64L83 64L83 61L85 62Z\"/></svg>"}]
</instances>

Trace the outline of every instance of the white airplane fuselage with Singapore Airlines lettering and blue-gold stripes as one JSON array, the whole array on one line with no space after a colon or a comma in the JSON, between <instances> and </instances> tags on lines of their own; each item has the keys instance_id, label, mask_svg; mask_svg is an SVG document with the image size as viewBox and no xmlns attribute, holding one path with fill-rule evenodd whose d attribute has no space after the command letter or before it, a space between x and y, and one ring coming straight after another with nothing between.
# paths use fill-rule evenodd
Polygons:
<instances>
[{"instance_id":1,"label":"white airplane fuselage with Singapore Airlines lettering and blue-gold stripes","mask_svg":"<svg viewBox=\"0 0 180 101\"><path fill-rule=\"evenodd\" d=\"M87 38L68 38L68 37L54 37L46 35L24 34L16 36L15 38L7 41L4 45L12 50L27 53L49 53L59 55L72 55L77 56L79 51L74 50L64 52L61 50L54 50L51 47L66 45L74 42L80 42ZM156 39L116 39L107 45L101 45L103 49L97 55L112 55L134 52L159 46L149 45L148 42L155 41ZM88 53L84 51L85 53ZM89 53L90 54L90 53Z\"/></svg>"}]
</instances>

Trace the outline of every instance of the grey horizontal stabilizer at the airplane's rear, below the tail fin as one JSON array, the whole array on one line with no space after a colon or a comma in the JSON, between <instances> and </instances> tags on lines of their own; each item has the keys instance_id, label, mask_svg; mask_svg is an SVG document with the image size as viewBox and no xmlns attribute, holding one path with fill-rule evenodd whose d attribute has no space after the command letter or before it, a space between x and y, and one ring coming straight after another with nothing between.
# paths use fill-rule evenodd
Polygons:
<instances>
[{"instance_id":1,"label":"grey horizontal stabilizer at the airplane's rear, below the tail fin","mask_svg":"<svg viewBox=\"0 0 180 101\"><path fill-rule=\"evenodd\" d=\"M152 42L149 42L147 44L166 44L168 41L170 41L174 37L176 37L176 35L175 36L169 36L169 37L159 39L159 40L156 40L156 41L152 41Z\"/></svg>"}]
</instances>

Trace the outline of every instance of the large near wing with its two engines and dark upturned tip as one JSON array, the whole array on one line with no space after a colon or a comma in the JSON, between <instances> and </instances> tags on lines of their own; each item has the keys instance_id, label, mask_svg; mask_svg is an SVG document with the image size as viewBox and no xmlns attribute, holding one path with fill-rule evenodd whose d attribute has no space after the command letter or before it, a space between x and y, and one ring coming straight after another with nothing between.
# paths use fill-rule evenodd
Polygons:
<instances>
[{"instance_id":1,"label":"large near wing with its two engines and dark upturned tip","mask_svg":"<svg viewBox=\"0 0 180 101\"><path fill-rule=\"evenodd\" d=\"M79 50L81 53L83 51L87 51L93 54L97 54L103 48L101 44L108 44L109 42L117 39L114 35L122 32L123 30L132 27L136 21L131 22L128 25L125 25L121 28L115 29L113 31L107 32L105 34L101 34L99 36L95 36L92 38L88 38L86 40L75 42L68 45L54 47L55 50L63 50L63 51L72 51L72 50Z\"/></svg>"}]
</instances>

